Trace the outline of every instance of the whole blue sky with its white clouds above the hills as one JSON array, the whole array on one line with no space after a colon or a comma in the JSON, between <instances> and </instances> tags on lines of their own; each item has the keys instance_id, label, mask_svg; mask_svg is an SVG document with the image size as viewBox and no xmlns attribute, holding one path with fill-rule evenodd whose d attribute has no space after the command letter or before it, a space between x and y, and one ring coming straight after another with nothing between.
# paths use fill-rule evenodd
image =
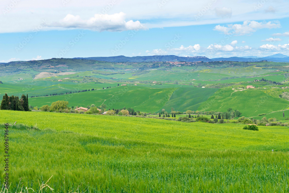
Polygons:
<instances>
[{"instance_id":1,"label":"whole blue sky with its white clouds above the hills","mask_svg":"<svg viewBox=\"0 0 289 193\"><path fill-rule=\"evenodd\" d=\"M3 0L0 62L53 57L289 55L283 0Z\"/></svg>"}]
</instances>

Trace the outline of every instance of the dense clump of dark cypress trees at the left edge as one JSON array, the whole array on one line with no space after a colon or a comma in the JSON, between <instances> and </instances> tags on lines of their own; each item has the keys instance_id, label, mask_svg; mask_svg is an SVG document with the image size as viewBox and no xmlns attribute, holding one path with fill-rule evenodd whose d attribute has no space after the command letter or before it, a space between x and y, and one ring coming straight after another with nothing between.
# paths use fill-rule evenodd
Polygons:
<instances>
[{"instance_id":1,"label":"dense clump of dark cypress trees at the left edge","mask_svg":"<svg viewBox=\"0 0 289 193\"><path fill-rule=\"evenodd\" d=\"M28 94L22 94L19 99L18 96L8 96L6 93L1 101L0 110L29 111Z\"/></svg>"}]
</instances>

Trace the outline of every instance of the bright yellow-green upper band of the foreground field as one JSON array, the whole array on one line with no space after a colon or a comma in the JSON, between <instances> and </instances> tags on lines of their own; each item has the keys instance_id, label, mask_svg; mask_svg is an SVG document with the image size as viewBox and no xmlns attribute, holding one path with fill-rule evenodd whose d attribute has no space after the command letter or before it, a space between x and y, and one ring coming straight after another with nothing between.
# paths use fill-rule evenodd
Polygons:
<instances>
[{"instance_id":1,"label":"bright yellow-green upper band of the foreground field","mask_svg":"<svg viewBox=\"0 0 289 193\"><path fill-rule=\"evenodd\" d=\"M73 131L91 136L154 142L216 150L289 151L288 127L259 126L245 131L239 124L182 123L152 118L95 116L51 112L0 111L0 123L37 125L40 129Z\"/></svg>"}]
</instances>

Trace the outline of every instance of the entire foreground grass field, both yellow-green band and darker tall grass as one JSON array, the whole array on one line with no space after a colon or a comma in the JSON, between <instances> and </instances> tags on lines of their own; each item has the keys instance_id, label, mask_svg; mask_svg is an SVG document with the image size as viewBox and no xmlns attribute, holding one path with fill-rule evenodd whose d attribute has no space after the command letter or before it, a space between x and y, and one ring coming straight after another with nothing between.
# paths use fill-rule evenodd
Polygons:
<instances>
[{"instance_id":1,"label":"entire foreground grass field, both yellow-green band and darker tall grass","mask_svg":"<svg viewBox=\"0 0 289 193\"><path fill-rule=\"evenodd\" d=\"M289 191L285 127L0 111L15 120L41 130L9 128L11 192L52 175L54 192Z\"/></svg>"}]
</instances>

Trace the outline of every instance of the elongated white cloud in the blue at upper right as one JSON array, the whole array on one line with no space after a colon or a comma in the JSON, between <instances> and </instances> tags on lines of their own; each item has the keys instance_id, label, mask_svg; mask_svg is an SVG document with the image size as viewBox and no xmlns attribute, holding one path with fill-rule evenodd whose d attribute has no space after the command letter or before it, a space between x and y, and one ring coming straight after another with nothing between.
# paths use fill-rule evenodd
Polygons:
<instances>
[{"instance_id":1,"label":"elongated white cloud in the blue at upper right","mask_svg":"<svg viewBox=\"0 0 289 193\"><path fill-rule=\"evenodd\" d=\"M257 29L273 29L281 27L279 21L257 22L257 21L244 21L243 24L229 24L228 27L217 25L214 27L215 31L223 32L227 35L246 35L252 34Z\"/></svg>"}]
</instances>

